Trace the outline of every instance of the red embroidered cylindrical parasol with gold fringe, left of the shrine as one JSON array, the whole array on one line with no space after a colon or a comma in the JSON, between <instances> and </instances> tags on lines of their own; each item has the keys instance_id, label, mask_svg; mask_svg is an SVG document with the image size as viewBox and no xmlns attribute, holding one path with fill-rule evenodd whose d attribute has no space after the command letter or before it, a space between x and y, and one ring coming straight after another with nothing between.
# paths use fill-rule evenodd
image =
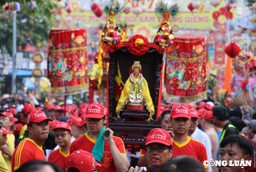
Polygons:
<instances>
[{"instance_id":1,"label":"red embroidered cylindrical parasol with gold fringe, left of the shrine","mask_svg":"<svg viewBox=\"0 0 256 172\"><path fill-rule=\"evenodd\" d=\"M86 30L51 30L48 78L54 95L88 91Z\"/></svg>"}]
</instances>

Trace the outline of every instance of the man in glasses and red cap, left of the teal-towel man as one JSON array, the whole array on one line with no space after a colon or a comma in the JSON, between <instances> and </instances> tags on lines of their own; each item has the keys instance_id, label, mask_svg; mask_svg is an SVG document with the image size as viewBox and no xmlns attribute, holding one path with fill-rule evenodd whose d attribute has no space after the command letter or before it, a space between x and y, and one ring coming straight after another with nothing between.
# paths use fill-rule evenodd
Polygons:
<instances>
[{"instance_id":1,"label":"man in glasses and red cap, left of the teal-towel man","mask_svg":"<svg viewBox=\"0 0 256 172\"><path fill-rule=\"evenodd\" d=\"M68 123L59 122L53 129L55 133L55 142L60 146L59 149L52 151L48 161L58 164L63 171L67 167L67 157L69 157L69 148L73 136L71 127Z\"/></svg>"}]
</instances>

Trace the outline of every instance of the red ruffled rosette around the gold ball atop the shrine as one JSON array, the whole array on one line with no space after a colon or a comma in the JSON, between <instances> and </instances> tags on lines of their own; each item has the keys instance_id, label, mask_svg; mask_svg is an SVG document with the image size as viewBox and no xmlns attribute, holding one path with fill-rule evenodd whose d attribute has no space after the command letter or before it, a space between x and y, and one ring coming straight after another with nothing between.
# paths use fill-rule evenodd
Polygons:
<instances>
[{"instance_id":1,"label":"red ruffled rosette around the gold ball atop the shrine","mask_svg":"<svg viewBox=\"0 0 256 172\"><path fill-rule=\"evenodd\" d=\"M138 49L135 47L135 41L140 38L143 40L143 46L142 48ZM132 53L133 55L137 55L137 56L142 56L144 55L149 48L149 43L148 43L148 39L145 38L142 35L134 35L133 37L131 37L128 41L128 50L130 53Z\"/></svg>"}]
</instances>

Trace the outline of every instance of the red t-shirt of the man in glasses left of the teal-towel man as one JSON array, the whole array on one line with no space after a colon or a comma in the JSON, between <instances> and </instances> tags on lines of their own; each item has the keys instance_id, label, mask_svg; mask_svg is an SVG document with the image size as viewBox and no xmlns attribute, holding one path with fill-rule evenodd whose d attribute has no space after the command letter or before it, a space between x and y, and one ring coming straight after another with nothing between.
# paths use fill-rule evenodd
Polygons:
<instances>
[{"instance_id":1,"label":"red t-shirt of the man in glasses left of the teal-towel man","mask_svg":"<svg viewBox=\"0 0 256 172\"><path fill-rule=\"evenodd\" d=\"M69 153L65 154L61 151L61 149L57 149L52 151L48 157L48 162L52 162L54 164L58 164L63 171L67 167L67 158L69 157Z\"/></svg>"}]
</instances>

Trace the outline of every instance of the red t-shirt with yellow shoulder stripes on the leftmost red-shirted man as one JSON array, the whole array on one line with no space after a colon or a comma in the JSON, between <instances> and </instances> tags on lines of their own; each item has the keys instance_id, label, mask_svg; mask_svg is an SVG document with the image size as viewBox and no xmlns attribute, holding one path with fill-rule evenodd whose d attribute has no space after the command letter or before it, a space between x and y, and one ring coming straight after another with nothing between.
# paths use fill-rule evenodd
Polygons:
<instances>
[{"instance_id":1,"label":"red t-shirt with yellow shoulder stripes on the leftmost red-shirted man","mask_svg":"<svg viewBox=\"0 0 256 172\"><path fill-rule=\"evenodd\" d=\"M31 160L45 160L45 153L42 147L39 147L34 140L25 138L19 142L18 146L13 152L11 159L11 171L17 170L22 164Z\"/></svg>"}]
</instances>

